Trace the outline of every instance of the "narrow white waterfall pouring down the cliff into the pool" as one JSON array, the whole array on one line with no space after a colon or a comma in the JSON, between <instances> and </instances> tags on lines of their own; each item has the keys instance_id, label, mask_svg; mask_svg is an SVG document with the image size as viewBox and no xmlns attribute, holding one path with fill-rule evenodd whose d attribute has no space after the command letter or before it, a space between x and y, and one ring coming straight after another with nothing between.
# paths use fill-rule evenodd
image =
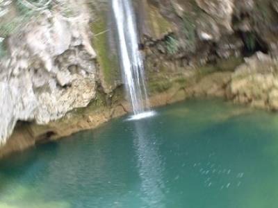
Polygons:
<instances>
[{"instance_id":1,"label":"narrow white waterfall pouring down the cliff into the pool","mask_svg":"<svg viewBox=\"0 0 278 208\"><path fill-rule=\"evenodd\" d=\"M138 49L138 33L130 0L113 0L113 12L117 26L120 63L124 84L129 92L133 114L141 118L150 116L149 101L145 85L144 64Z\"/></svg>"}]
</instances>

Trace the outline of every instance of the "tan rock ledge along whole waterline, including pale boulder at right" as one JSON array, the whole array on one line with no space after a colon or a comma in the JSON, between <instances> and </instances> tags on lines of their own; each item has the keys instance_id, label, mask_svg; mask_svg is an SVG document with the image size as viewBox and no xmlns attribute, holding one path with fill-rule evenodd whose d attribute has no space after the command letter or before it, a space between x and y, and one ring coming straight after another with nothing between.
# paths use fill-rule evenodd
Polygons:
<instances>
[{"instance_id":1,"label":"tan rock ledge along whole waterline, including pale boulder at right","mask_svg":"<svg viewBox=\"0 0 278 208\"><path fill-rule=\"evenodd\" d=\"M166 76L165 80L149 80L150 104L156 107L188 98L218 97L265 110L278 110L278 96L275 93L278 92L277 60L256 53L246 58L243 64L236 64L233 70L227 62L218 65L222 67L221 70L213 66L213 71L208 73L200 68ZM211 66L206 67L211 69ZM131 109L123 94L122 87L115 89L109 98L97 92L97 98L87 107L72 110L62 119L45 125L18 122L13 135L0 148L0 157L67 137L80 130L97 128L102 123L129 113Z\"/></svg>"}]
</instances>

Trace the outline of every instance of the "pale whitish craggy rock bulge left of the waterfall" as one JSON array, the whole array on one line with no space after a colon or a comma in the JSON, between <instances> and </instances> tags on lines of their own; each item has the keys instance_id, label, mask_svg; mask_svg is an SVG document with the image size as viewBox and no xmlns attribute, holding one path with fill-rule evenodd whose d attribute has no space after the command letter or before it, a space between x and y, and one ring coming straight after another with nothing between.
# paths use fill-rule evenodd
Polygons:
<instances>
[{"instance_id":1,"label":"pale whitish craggy rock bulge left of the waterfall","mask_svg":"<svg viewBox=\"0 0 278 208\"><path fill-rule=\"evenodd\" d=\"M86 10L45 12L6 40L0 64L0 144L17 121L48 123L95 98L97 71Z\"/></svg>"}]
</instances>

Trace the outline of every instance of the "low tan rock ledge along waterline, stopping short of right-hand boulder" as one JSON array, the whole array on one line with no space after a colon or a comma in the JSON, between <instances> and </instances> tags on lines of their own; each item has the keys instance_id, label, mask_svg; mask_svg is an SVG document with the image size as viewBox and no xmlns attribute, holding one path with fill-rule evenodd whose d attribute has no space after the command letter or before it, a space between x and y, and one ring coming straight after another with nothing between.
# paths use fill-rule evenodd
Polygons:
<instances>
[{"instance_id":1,"label":"low tan rock ledge along waterline, stopping short of right-hand boulder","mask_svg":"<svg viewBox=\"0 0 278 208\"><path fill-rule=\"evenodd\" d=\"M195 76L183 78L185 80L193 80ZM189 98L205 97L232 100L229 99L226 92L230 76L231 72L215 72L206 74L203 78L191 83L190 81L181 83L180 80L177 80L177 82L172 80L172 87L162 92L156 91L155 94L149 96L149 105L150 107L158 107ZM215 90L212 91L212 88ZM99 104L99 101L96 101L96 103L91 103L88 107L76 109L63 117L63 119L51 121L47 125L18 123L6 145L0 148L0 158L26 150L32 146L68 137L82 130L98 128L111 119L131 112L129 102L124 99L122 94L123 92L120 92L117 102L111 105Z\"/></svg>"}]
</instances>

